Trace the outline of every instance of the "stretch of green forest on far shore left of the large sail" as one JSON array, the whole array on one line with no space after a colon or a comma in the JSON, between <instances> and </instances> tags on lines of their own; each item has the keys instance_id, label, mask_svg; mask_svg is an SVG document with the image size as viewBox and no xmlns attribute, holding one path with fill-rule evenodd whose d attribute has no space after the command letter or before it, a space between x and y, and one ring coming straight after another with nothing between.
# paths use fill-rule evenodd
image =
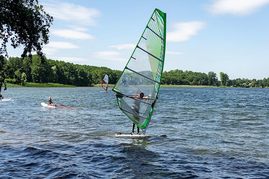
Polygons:
<instances>
[{"instance_id":1,"label":"stretch of green forest on far shore left of the large sail","mask_svg":"<svg viewBox=\"0 0 269 179\"><path fill-rule=\"evenodd\" d=\"M115 84L121 75L120 70L107 67L79 65L64 61L41 59L38 55L32 58L0 56L0 80L3 83L24 85L25 82L70 84L77 87L91 87L100 84L105 74L109 83ZM3 81L4 78L4 81ZM1 82L0 82L0 86Z\"/></svg>"}]
</instances>

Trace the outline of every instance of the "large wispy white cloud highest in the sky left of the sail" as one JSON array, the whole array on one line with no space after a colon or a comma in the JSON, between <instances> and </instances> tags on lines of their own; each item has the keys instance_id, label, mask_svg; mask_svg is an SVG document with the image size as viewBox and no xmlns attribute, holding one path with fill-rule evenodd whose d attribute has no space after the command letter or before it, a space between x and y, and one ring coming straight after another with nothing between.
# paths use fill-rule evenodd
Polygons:
<instances>
[{"instance_id":1,"label":"large wispy white cloud highest in the sky left of the sail","mask_svg":"<svg viewBox=\"0 0 269 179\"><path fill-rule=\"evenodd\" d=\"M43 5L45 11L55 19L73 21L79 24L96 25L94 18L100 15L99 10L67 2L51 1Z\"/></svg>"}]
</instances>

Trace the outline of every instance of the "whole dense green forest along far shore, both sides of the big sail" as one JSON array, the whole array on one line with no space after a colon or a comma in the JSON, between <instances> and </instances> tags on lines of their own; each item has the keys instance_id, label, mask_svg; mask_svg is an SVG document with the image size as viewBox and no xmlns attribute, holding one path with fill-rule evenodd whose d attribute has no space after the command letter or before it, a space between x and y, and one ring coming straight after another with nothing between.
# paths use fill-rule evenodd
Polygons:
<instances>
[{"instance_id":1,"label":"whole dense green forest along far shore, both sides of the big sail","mask_svg":"<svg viewBox=\"0 0 269 179\"><path fill-rule=\"evenodd\" d=\"M45 58L45 57L44 57ZM109 83L115 84L120 77L120 70L111 70L107 67L78 65L64 61L46 59L43 62L38 55L32 58L1 56L0 78L5 78L5 83L21 84L34 83L59 83L70 84L78 87L88 87L100 84L105 74L109 76ZM215 72L201 73L182 70L163 72L162 84L167 85L205 85L226 87L269 87L269 78L261 80L237 78L230 80L226 73L220 72L220 81Z\"/></svg>"}]
</instances>

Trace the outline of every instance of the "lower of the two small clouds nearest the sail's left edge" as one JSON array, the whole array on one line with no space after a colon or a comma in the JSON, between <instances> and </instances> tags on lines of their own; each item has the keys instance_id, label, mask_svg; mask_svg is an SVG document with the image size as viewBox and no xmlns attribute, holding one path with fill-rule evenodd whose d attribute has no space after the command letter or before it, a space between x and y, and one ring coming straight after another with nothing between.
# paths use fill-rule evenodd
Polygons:
<instances>
[{"instance_id":1,"label":"lower of the two small clouds nearest the sail's left edge","mask_svg":"<svg viewBox=\"0 0 269 179\"><path fill-rule=\"evenodd\" d=\"M109 61L127 61L126 58L123 58L121 53L116 51L98 51L94 52L94 57L101 60Z\"/></svg>"}]
</instances>

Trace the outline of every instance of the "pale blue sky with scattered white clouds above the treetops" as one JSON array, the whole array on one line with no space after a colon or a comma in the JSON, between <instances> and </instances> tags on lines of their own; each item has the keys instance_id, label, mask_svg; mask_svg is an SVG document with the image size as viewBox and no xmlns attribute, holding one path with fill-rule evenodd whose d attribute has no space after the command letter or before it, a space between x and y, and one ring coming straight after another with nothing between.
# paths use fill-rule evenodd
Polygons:
<instances>
[{"instance_id":1,"label":"pale blue sky with scattered white clouds above the treetops","mask_svg":"<svg viewBox=\"0 0 269 179\"><path fill-rule=\"evenodd\" d=\"M123 70L155 8L166 13L164 70L269 77L269 0L51 1L47 58ZM8 48L10 56L21 49Z\"/></svg>"}]
</instances>

